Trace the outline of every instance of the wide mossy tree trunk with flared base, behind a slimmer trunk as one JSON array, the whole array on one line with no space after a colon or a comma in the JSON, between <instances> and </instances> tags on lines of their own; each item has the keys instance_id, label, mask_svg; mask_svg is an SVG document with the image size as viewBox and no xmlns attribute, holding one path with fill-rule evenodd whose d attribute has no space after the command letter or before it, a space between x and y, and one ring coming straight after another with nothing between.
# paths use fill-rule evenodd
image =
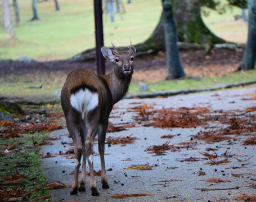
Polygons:
<instances>
[{"instance_id":1,"label":"wide mossy tree trunk with flared base, behind a slimmer trunk","mask_svg":"<svg viewBox=\"0 0 256 202\"><path fill-rule=\"evenodd\" d=\"M226 42L206 27L201 18L201 11L204 15L208 15L205 8L210 8L221 14L226 12L227 7L237 6L245 8L247 4L246 0L228 0L224 4L220 0L173 0L172 2L178 41L201 44L205 47L206 53L209 53L210 48L214 44ZM153 33L140 45L143 51L147 49L164 50L163 20L162 13Z\"/></svg>"}]
</instances>

